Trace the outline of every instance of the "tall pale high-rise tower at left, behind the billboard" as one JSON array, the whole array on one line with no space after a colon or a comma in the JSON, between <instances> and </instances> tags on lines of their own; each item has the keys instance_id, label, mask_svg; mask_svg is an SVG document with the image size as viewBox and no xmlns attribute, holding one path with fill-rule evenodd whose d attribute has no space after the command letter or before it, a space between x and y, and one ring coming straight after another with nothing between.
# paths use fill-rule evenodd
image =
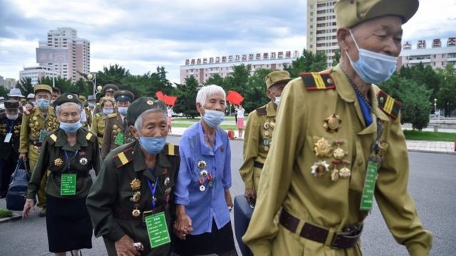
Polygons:
<instances>
[{"instance_id":1,"label":"tall pale high-rise tower at left, behind the billboard","mask_svg":"<svg viewBox=\"0 0 456 256\"><path fill-rule=\"evenodd\" d=\"M39 63L53 68L63 78L76 82L81 78L79 73L90 73L90 42L78 38L78 31L74 28L48 31L47 41L40 41L39 48L68 49L68 63Z\"/></svg>"}]
</instances>

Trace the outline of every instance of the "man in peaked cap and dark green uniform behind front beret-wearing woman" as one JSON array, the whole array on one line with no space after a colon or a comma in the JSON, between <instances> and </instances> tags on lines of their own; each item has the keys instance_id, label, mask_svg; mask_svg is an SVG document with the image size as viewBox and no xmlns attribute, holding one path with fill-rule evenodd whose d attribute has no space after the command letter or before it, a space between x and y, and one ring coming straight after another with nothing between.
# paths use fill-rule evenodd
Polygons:
<instances>
[{"instance_id":1,"label":"man in peaked cap and dark green uniform behind front beret-wearing woman","mask_svg":"<svg viewBox=\"0 0 456 256\"><path fill-rule=\"evenodd\" d=\"M130 102L133 102L135 95L128 90L119 90L114 93L117 112L108 114L105 123L105 134L101 146L101 158L105 159L111 149L133 142L135 137L130 134L127 120L125 119Z\"/></svg>"}]
</instances>

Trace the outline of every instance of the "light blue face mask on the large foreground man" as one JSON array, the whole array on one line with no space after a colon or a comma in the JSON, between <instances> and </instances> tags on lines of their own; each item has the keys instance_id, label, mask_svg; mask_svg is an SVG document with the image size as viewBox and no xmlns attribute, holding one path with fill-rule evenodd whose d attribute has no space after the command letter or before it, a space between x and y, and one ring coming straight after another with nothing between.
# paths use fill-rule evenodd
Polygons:
<instances>
[{"instance_id":1,"label":"light blue face mask on the large foreground man","mask_svg":"<svg viewBox=\"0 0 456 256\"><path fill-rule=\"evenodd\" d=\"M381 53L375 53L371 50L366 50L358 47L353 34L351 38L358 48L358 61L353 62L350 55L346 52L353 70L360 76L364 82L378 83L388 80L396 70L398 57L388 56Z\"/></svg>"}]
</instances>

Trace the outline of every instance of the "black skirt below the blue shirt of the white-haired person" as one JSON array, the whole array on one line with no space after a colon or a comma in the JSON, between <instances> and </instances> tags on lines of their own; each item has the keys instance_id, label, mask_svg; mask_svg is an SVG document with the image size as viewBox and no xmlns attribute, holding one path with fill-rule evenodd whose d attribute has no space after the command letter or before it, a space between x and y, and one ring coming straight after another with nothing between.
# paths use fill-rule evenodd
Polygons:
<instances>
[{"instance_id":1,"label":"black skirt below the blue shirt of the white-haired person","mask_svg":"<svg viewBox=\"0 0 456 256\"><path fill-rule=\"evenodd\" d=\"M209 255L212 253L237 255L234 247L233 229L231 222L217 229L215 221L212 220L211 233L202 233L201 235L187 235L185 240L180 240L173 234L172 251L178 255Z\"/></svg>"}]
</instances>

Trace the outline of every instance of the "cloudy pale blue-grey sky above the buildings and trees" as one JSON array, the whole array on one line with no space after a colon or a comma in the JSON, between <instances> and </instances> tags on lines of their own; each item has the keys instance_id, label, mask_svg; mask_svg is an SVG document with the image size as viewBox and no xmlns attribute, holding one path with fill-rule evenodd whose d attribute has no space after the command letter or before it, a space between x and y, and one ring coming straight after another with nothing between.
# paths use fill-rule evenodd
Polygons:
<instances>
[{"instance_id":1,"label":"cloudy pale blue-grey sky above the buildings and trees","mask_svg":"<svg viewBox=\"0 0 456 256\"><path fill-rule=\"evenodd\" d=\"M18 79L37 65L35 48L48 31L71 27L90 41L92 72L117 63L142 75L163 65L179 82L187 58L301 51L305 21L304 0L0 0L0 75ZM456 36L456 0L420 0L403 28L414 47L433 38L446 45Z\"/></svg>"}]
</instances>

